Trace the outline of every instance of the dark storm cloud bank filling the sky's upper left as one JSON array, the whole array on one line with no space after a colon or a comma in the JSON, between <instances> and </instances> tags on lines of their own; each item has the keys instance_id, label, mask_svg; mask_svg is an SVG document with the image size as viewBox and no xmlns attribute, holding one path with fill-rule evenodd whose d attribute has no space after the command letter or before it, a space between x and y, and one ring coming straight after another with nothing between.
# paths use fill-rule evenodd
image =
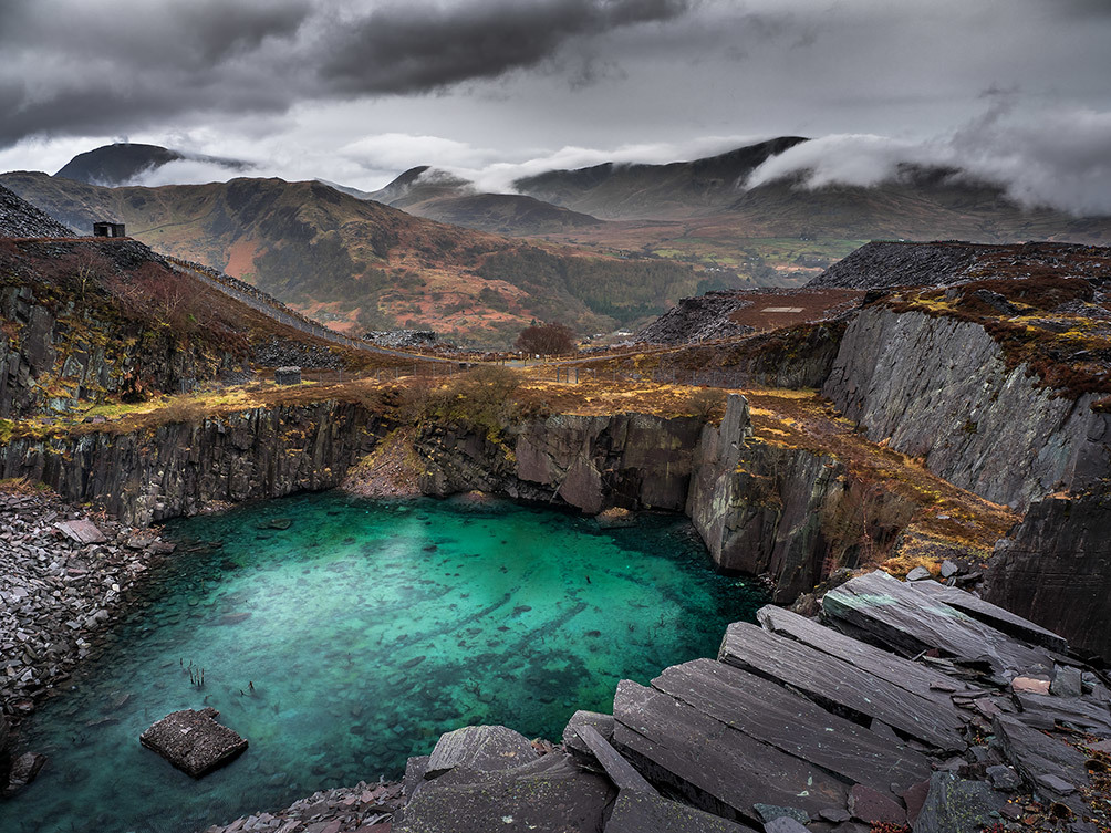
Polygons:
<instances>
[{"instance_id":1,"label":"dark storm cloud bank filling the sky's upper left","mask_svg":"<svg viewBox=\"0 0 1111 833\"><path fill-rule=\"evenodd\" d=\"M173 117L423 93L533 68L575 37L665 21L687 0L6 0L0 147ZM62 21L63 24L59 24Z\"/></svg>"}]
</instances>

